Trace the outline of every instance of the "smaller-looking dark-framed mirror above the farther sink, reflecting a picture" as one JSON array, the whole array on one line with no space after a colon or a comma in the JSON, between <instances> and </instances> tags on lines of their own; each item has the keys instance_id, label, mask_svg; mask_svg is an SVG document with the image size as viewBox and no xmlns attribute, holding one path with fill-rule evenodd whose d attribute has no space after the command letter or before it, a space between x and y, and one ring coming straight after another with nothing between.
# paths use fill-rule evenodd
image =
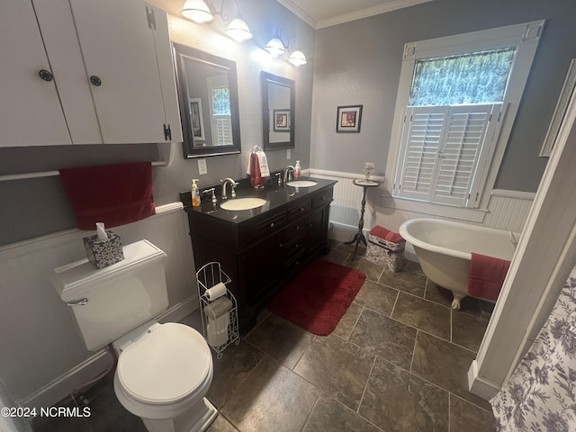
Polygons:
<instances>
[{"instance_id":1,"label":"smaller-looking dark-framed mirror above the farther sink, reflecting a picture","mask_svg":"<svg viewBox=\"0 0 576 432\"><path fill-rule=\"evenodd\" d=\"M294 81L262 72L264 149L294 148Z\"/></svg>"}]
</instances>

